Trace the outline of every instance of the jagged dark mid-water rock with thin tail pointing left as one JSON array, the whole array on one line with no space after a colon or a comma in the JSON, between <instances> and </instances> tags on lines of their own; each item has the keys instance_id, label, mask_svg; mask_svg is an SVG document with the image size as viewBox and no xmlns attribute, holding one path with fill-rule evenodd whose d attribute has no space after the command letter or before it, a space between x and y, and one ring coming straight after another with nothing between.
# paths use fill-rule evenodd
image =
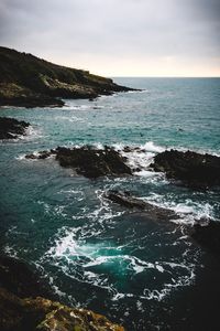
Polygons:
<instances>
[{"instance_id":1,"label":"jagged dark mid-water rock with thin tail pointing left","mask_svg":"<svg viewBox=\"0 0 220 331\"><path fill-rule=\"evenodd\" d=\"M95 149L90 146L81 148L57 147L55 150L26 156L26 159L45 159L55 154L62 167L73 168L78 174L90 179L103 175L132 174L125 164L127 159L113 148Z\"/></svg>"}]
</instances>

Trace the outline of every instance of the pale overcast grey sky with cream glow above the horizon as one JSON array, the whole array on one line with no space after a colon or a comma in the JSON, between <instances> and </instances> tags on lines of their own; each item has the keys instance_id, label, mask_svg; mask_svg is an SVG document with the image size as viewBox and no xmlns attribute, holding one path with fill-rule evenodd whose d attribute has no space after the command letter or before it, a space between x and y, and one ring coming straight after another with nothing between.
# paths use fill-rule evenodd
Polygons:
<instances>
[{"instance_id":1,"label":"pale overcast grey sky with cream glow above the horizon","mask_svg":"<svg viewBox=\"0 0 220 331\"><path fill-rule=\"evenodd\" d=\"M103 76L220 76L220 0L0 0L0 45Z\"/></svg>"}]
</instances>

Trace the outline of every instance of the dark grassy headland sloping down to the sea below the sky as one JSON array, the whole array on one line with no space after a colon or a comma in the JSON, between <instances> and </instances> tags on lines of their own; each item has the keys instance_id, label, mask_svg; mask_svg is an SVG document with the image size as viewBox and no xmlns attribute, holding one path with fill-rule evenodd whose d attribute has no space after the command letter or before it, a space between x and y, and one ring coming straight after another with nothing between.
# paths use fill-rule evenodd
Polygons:
<instances>
[{"instance_id":1,"label":"dark grassy headland sloping down to the sea below the sky","mask_svg":"<svg viewBox=\"0 0 220 331\"><path fill-rule=\"evenodd\" d=\"M32 54L0 47L0 105L62 106L57 98L96 98L131 88L88 71L69 68Z\"/></svg>"}]
</instances>

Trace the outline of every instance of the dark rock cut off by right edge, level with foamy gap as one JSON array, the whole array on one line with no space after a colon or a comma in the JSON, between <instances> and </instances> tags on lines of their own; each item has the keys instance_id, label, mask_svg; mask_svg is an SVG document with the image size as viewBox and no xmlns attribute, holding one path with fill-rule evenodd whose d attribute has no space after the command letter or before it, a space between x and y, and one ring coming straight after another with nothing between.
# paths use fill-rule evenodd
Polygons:
<instances>
[{"instance_id":1,"label":"dark rock cut off by right edge, level with foamy gap","mask_svg":"<svg viewBox=\"0 0 220 331\"><path fill-rule=\"evenodd\" d=\"M220 184L220 158L216 156L169 150L158 153L150 167L191 188Z\"/></svg>"}]
</instances>

